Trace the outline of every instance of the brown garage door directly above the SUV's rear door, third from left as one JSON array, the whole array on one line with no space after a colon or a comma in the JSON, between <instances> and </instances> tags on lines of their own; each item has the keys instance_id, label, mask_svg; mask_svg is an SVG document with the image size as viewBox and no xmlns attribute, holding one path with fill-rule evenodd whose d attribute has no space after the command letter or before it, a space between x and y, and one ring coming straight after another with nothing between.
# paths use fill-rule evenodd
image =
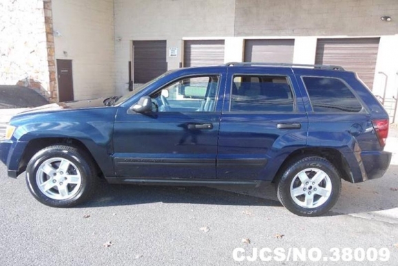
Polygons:
<instances>
[{"instance_id":1,"label":"brown garage door directly above the SUV's rear door, third from left","mask_svg":"<svg viewBox=\"0 0 398 266\"><path fill-rule=\"evenodd\" d=\"M244 62L293 63L294 40L246 40Z\"/></svg>"}]
</instances>

